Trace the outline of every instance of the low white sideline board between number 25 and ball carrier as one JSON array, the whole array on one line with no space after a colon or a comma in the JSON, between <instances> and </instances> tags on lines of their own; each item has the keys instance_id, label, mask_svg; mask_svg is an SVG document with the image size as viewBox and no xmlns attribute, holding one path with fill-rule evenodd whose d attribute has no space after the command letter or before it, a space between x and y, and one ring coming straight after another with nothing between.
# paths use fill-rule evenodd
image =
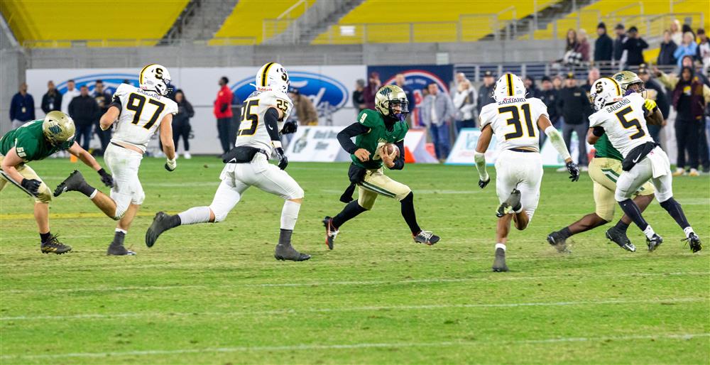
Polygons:
<instances>
[{"instance_id":1,"label":"low white sideline board between number 25 and ball carrier","mask_svg":"<svg viewBox=\"0 0 710 365\"><path fill-rule=\"evenodd\" d=\"M349 161L338 142L341 126L299 126L286 148L288 160L297 162Z\"/></svg>"}]
</instances>

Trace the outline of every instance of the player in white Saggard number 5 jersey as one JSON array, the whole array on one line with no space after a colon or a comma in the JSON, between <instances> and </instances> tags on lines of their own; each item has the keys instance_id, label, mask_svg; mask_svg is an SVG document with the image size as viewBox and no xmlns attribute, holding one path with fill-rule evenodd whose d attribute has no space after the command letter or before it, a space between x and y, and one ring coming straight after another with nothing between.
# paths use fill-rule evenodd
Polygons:
<instances>
[{"instance_id":1,"label":"player in white Saggard number 5 jersey","mask_svg":"<svg viewBox=\"0 0 710 365\"><path fill-rule=\"evenodd\" d=\"M616 180L614 198L646 236L648 251L654 251L663 239L655 233L643 219L633 194L648 180L656 189L656 200L685 232L690 250L697 252L702 244L690 227L680 204L673 199L670 161L665 151L655 143L648 133L644 112L645 100L636 93L626 96L621 86L611 77L602 77L591 85L589 97L594 100L596 113L589 116L587 141L594 144L606 133L609 141L623 156L621 169Z\"/></svg>"}]
</instances>

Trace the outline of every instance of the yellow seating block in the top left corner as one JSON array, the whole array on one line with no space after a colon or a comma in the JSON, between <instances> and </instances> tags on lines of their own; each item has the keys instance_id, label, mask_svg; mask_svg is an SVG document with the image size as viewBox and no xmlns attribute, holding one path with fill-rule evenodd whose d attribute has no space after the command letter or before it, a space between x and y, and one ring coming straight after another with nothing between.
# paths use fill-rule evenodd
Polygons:
<instances>
[{"instance_id":1,"label":"yellow seating block in the top left corner","mask_svg":"<svg viewBox=\"0 0 710 365\"><path fill-rule=\"evenodd\" d=\"M2 0L0 11L26 47L120 47L155 45L187 2ZM126 26L129 20L141 26Z\"/></svg>"}]
</instances>

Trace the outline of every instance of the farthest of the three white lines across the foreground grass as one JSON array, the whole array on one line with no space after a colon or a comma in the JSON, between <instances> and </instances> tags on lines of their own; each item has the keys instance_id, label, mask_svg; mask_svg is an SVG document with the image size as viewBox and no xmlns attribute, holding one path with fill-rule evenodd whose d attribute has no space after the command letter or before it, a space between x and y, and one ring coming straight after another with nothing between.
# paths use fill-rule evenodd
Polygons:
<instances>
[{"instance_id":1,"label":"farthest of the three white lines across the foreground grass","mask_svg":"<svg viewBox=\"0 0 710 365\"><path fill-rule=\"evenodd\" d=\"M710 276L710 272L686 273L626 273L627 277L634 276ZM580 273L579 276L588 276ZM616 277L618 273L594 274L594 278ZM328 286L328 285L400 285L417 283L462 283L467 281L516 281L516 280L548 280L572 279L575 275L550 275L550 276L504 276L502 278L476 277L476 278L430 278L406 280L349 280L349 281L311 281L308 283L256 283L256 284L226 284L226 285L165 285L165 286L119 286L115 288L70 288L70 289L11 289L0 290L3 294L21 293L77 293L88 291L124 291L124 290L173 290L173 289L224 289L224 288L271 288L271 287L299 287L299 286Z\"/></svg>"}]
</instances>

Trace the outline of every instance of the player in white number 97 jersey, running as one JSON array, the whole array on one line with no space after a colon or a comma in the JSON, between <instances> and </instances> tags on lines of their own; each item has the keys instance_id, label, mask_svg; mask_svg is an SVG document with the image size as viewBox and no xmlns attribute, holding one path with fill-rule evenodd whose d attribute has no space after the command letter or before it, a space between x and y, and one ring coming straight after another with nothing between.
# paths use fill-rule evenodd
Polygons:
<instances>
[{"instance_id":1,"label":"player in white number 97 jersey, running","mask_svg":"<svg viewBox=\"0 0 710 365\"><path fill-rule=\"evenodd\" d=\"M116 122L113 138L104 153L115 182L111 188L111 197L89 185L78 170L71 173L54 192L55 197L67 191L81 192L104 214L119 221L108 255L136 254L124 247L124 239L146 197L141 181L138 180L138 168L148 141L151 141L158 129L163 152L168 157L165 170L173 171L177 167L173 144L173 114L178 112L178 104L166 97L170 89L170 72L161 65L147 65L141 70L138 81L140 87L121 84L116 89L109 109L99 121L104 131Z\"/></svg>"}]
</instances>

